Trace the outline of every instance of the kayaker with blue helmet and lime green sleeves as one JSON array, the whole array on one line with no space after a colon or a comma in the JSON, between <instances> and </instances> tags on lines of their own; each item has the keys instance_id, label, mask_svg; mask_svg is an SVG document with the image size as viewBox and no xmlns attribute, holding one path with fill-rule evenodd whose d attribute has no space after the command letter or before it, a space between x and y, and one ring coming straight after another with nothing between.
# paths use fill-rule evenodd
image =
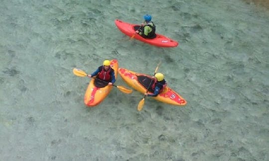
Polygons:
<instances>
[{"instance_id":1,"label":"kayaker with blue helmet and lime green sleeves","mask_svg":"<svg viewBox=\"0 0 269 161\"><path fill-rule=\"evenodd\" d=\"M151 15L145 14L143 18L144 18L144 23L142 23L139 29L135 32L141 35L143 38L147 38L147 39L155 38L156 26L151 21Z\"/></svg>"}]
</instances>

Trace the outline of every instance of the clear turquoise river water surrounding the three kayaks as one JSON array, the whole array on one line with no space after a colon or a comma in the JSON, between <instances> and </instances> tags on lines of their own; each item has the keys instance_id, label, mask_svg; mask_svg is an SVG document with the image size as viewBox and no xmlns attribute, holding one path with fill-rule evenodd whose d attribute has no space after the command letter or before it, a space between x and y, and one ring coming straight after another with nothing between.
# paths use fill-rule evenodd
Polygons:
<instances>
[{"instance_id":1,"label":"clear turquoise river water surrounding the three kayaks","mask_svg":"<svg viewBox=\"0 0 269 161\"><path fill-rule=\"evenodd\" d=\"M152 5L145 10L142 5ZM115 19L179 42L130 40ZM0 161L268 161L269 11L242 0L1 0ZM117 88L83 98L104 59L153 74L177 107ZM120 78L117 85L127 86Z\"/></svg>"}]
</instances>

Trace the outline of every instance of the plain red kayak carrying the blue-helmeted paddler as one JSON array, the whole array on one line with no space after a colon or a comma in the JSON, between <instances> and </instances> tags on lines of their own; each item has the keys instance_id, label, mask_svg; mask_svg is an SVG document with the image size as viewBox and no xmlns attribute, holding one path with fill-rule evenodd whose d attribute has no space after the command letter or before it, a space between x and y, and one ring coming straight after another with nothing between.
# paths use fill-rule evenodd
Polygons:
<instances>
[{"instance_id":1,"label":"plain red kayak carrying the blue-helmeted paddler","mask_svg":"<svg viewBox=\"0 0 269 161\"><path fill-rule=\"evenodd\" d=\"M140 40L142 42L158 47L176 47L178 45L178 42L176 42L175 40L172 40L168 37L165 37L157 33L156 37L153 39L143 38L139 34L135 33L135 30L137 30L140 27L137 24L127 23L118 19L115 20L115 24L127 36L133 37L134 39Z\"/></svg>"}]
</instances>

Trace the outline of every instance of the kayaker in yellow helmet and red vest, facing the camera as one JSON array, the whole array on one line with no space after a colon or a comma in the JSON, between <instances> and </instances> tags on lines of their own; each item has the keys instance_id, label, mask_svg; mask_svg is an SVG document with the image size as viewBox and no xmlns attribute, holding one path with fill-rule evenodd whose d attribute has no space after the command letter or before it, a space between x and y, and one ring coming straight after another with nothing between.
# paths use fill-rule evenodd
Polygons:
<instances>
[{"instance_id":1,"label":"kayaker in yellow helmet and red vest, facing the camera","mask_svg":"<svg viewBox=\"0 0 269 161\"><path fill-rule=\"evenodd\" d=\"M116 79L115 79L115 72L114 70L110 67L110 61L105 60L103 62L103 66L98 67L98 69L92 73L91 75L87 75L89 78L97 76L98 79L100 80L105 80L109 82L109 85L112 85Z\"/></svg>"}]
</instances>

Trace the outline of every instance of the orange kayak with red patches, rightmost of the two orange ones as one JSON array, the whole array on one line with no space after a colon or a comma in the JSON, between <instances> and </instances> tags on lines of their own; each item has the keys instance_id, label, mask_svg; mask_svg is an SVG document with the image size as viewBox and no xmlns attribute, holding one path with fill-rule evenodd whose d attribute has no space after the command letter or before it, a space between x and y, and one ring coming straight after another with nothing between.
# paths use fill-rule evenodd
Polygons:
<instances>
[{"instance_id":1,"label":"orange kayak with red patches, rightmost of the two orange ones","mask_svg":"<svg viewBox=\"0 0 269 161\"><path fill-rule=\"evenodd\" d=\"M147 87L149 86L148 80L151 79L151 76L135 73L133 71L127 70L125 68L119 68L119 74L121 78L135 90L145 93ZM152 92L149 92L152 93ZM156 97L152 97L158 101L172 104L172 105L186 105L187 101L182 98L177 92L166 86L161 93Z\"/></svg>"}]
</instances>

